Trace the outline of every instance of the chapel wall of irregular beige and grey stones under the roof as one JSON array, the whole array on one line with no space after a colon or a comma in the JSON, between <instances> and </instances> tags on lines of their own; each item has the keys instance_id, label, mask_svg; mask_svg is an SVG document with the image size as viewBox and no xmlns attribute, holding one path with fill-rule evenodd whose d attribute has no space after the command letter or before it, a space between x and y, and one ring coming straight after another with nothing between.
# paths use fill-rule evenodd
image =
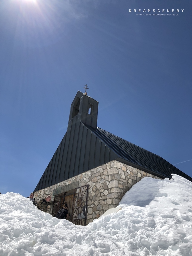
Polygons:
<instances>
[{"instance_id":1,"label":"chapel wall of irregular beige and grey stones under the roof","mask_svg":"<svg viewBox=\"0 0 192 256\"><path fill-rule=\"evenodd\" d=\"M54 195L58 188L89 185L87 223L99 218L106 210L115 208L123 195L143 177L159 178L132 166L113 160L63 182L35 192L36 200ZM50 210L49 210L50 211Z\"/></svg>"}]
</instances>

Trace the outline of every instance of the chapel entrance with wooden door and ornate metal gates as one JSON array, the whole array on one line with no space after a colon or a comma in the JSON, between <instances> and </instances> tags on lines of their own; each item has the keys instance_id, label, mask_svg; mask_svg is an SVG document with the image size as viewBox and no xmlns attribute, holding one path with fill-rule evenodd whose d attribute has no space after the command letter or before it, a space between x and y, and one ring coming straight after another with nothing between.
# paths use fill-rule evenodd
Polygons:
<instances>
[{"instance_id":1,"label":"chapel entrance with wooden door and ornate metal gates","mask_svg":"<svg viewBox=\"0 0 192 256\"><path fill-rule=\"evenodd\" d=\"M85 185L56 195L54 202L59 202L59 204L53 207L52 216L55 217L64 201L67 201L69 221L76 225L86 226L88 187L89 185Z\"/></svg>"}]
</instances>

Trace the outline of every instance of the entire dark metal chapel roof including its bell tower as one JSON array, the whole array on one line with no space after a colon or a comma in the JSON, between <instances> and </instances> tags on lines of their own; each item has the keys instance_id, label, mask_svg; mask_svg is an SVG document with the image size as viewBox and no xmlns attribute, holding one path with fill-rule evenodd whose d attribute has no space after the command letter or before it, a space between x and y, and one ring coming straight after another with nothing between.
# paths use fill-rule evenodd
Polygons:
<instances>
[{"instance_id":1,"label":"entire dark metal chapel roof including its bell tower","mask_svg":"<svg viewBox=\"0 0 192 256\"><path fill-rule=\"evenodd\" d=\"M158 177L192 178L155 155L97 127L98 101L78 91L70 109L67 132L35 191L58 184L92 168L117 160Z\"/></svg>"}]
</instances>

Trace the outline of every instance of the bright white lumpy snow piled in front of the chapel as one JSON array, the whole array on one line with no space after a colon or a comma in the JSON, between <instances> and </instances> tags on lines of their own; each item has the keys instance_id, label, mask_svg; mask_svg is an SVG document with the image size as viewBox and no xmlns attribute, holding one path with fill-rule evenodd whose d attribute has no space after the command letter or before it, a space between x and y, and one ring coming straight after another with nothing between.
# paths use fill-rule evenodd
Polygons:
<instances>
[{"instance_id":1,"label":"bright white lumpy snow piled in front of the chapel","mask_svg":"<svg viewBox=\"0 0 192 256\"><path fill-rule=\"evenodd\" d=\"M1 256L192 256L192 183L143 178L122 210L76 226L19 194L0 195Z\"/></svg>"}]
</instances>

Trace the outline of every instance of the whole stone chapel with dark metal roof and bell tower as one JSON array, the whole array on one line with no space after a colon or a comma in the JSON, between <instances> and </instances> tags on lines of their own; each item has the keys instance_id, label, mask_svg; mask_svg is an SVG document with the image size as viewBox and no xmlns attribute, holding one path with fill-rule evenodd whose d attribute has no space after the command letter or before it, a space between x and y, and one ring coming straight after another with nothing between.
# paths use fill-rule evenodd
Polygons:
<instances>
[{"instance_id":1,"label":"whole stone chapel with dark metal roof and bell tower","mask_svg":"<svg viewBox=\"0 0 192 256\"><path fill-rule=\"evenodd\" d=\"M192 178L155 155L97 127L98 101L77 92L70 109L67 132L43 173L36 200L52 196L55 216L68 204L70 221L87 225L118 206L123 195L143 177L164 179L171 174Z\"/></svg>"}]
</instances>

